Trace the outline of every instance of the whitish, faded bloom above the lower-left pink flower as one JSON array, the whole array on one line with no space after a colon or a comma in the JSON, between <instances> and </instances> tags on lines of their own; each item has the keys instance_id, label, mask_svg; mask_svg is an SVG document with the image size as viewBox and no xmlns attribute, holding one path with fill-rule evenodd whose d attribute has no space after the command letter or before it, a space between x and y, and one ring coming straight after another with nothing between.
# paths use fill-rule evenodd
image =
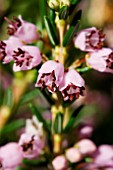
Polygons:
<instances>
[{"instance_id":1,"label":"whitish, faded bloom above the lower-left pink flower","mask_svg":"<svg viewBox=\"0 0 113 170\"><path fill-rule=\"evenodd\" d=\"M43 123L36 116L26 120L25 132L33 135L43 136Z\"/></svg>"}]
</instances>

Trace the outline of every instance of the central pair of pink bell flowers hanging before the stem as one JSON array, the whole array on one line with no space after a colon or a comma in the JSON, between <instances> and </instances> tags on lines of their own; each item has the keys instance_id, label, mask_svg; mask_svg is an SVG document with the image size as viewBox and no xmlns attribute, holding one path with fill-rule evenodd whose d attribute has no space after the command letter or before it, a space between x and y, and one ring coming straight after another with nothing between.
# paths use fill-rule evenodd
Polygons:
<instances>
[{"instance_id":1,"label":"central pair of pink bell flowers hanging before the stem","mask_svg":"<svg viewBox=\"0 0 113 170\"><path fill-rule=\"evenodd\" d=\"M47 87L50 92L57 88L61 91L64 100L73 100L83 95L84 80L73 69L64 69L63 64L57 61L47 61L39 70L36 87Z\"/></svg>"}]
</instances>

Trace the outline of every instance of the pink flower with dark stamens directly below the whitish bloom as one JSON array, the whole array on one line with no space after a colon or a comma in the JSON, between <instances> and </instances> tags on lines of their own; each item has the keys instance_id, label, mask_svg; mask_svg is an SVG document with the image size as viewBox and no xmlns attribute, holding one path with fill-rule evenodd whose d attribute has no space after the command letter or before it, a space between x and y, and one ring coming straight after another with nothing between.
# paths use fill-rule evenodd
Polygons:
<instances>
[{"instance_id":1,"label":"pink flower with dark stamens directly below the whitish bloom","mask_svg":"<svg viewBox=\"0 0 113 170\"><path fill-rule=\"evenodd\" d=\"M44 143L39 136L24 133L20 137L19 146L23 157L31 159L40 155Z\"/></svg>"}]
</instances>

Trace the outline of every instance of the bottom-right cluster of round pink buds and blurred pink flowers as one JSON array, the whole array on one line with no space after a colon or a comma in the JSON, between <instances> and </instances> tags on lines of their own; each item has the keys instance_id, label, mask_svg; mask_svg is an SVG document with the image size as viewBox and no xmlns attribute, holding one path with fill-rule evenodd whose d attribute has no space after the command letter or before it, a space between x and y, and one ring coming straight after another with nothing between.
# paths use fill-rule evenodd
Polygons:
<instances>
[{"instance_id":1,"label":"bottom-right cluster of round pink buds and blurred pink flowers","mask_svg":"<svg viewBox=\"0 0 113 170\"><path fill-rule=\"evenodd\" d=\"M66 150L64 155L59 155L52 161L55 170L68 169L69 163L79 163L83 159L89 162L78 164L80 170L110 170L113 168L113 146L96 145L89 139L81 139L74 147ZM79 167L80 166L80 167Z\"/></svg>"}]
</instances>

